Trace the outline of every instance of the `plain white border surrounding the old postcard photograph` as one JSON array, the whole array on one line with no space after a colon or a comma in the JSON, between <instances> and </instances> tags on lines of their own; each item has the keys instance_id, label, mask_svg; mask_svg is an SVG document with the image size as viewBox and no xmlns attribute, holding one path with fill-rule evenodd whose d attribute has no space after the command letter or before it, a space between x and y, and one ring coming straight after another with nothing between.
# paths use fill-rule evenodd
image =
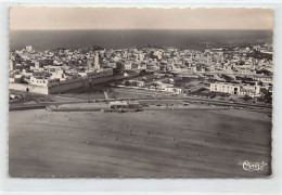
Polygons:
<instances>
[{"instance_id":1,"label":"plain white border surrounding the old postcard photograph","mask_svg":"<svg viewBox=\"0 0 282 195\"><path fill-rule=\"evenodd\" d=\"M175 0L176 1L176 0ZM21 3L20 3L21 2ZM9 6L244 6L274 9L274 109L272 177L267 179L14 179L8 176ZM282 2L279 0L198 1L0 1L0 194L282 194ZM281 35L281 36L279 36ZM64 193L63 193L64 192ZM91 193L92 194L92 193Z\"/></svg>"}]
</instances>

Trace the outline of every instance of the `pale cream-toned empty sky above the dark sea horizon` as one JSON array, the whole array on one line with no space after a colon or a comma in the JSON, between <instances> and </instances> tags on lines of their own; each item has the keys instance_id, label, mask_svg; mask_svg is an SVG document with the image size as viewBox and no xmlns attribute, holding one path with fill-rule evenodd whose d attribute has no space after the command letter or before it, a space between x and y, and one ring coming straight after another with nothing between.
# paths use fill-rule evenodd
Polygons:
<instances>
[{"instance_id":1,"label":"pale cream-toned empty sky above the dark sea horizon","mask_svg":"<svg viewBox=\"0 0 282 195\"><path fill-rule=\"evenodd\" d=\"M271 9L10 9L11 30L44 29L272 29Z\"/></svg>"}]
</instances>

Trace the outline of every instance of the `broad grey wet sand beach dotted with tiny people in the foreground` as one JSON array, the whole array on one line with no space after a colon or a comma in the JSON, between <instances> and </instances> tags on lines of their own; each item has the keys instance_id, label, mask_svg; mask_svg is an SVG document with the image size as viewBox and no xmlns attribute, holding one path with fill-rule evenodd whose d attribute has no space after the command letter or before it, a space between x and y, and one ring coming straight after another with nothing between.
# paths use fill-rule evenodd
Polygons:
<instances>
[{"instance_id":1,"label":"broad grey wet sand beach dotted with tiny people in the foreground","mask_svg":"<svg viewBox=\"0 0 282 195\"><path fill-rule=\"evenodd\" d=\"M264 177L271 118L246 110L10 112L12 177ZM239 161L265 161L245 171Z\"/></svg>"}]
</instances>

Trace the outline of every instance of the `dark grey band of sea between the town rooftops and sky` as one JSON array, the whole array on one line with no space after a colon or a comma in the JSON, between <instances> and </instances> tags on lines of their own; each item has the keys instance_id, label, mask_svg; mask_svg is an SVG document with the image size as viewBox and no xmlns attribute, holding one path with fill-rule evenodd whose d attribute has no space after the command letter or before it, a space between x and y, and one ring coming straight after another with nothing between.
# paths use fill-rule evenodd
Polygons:
<instances>
[{"instance_id":1,"label":"dark grey band of sea between the town rooftops and sky","mask_svg":"<svg viewBox=\"0 0 282 195\"><path fill-rule=\"evenodd\" d=\"M145 44L181 49L236 47L271 43L272 30L12 30L10 50L34 46L42 51L54 48L79 49L100 46L125 49Z\"/></svg>"}]
</instances>

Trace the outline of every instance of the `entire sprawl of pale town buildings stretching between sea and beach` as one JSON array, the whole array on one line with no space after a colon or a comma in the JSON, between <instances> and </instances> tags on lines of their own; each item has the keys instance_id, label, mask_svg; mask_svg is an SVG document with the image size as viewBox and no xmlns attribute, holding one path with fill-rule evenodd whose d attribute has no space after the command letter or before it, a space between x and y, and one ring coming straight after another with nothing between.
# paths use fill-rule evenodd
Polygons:
<instances>
[{"instance_id":1,"label":"entire sprawl of pale town buildings stretching between sea and beach","mask_svg":"<svg viewBox=\"0 0 282 195\"><path fill-rule=\"evenodd\" d=\"M184 50L175 48L56 49L43 52L33 47L10 52L10 83L52 88L115 73L165 73L185 78L204 78L209 90L238 95L259 96L272 90L272 46ZM127 80L144 88L140 80ZM182 93L174 79L154 81L151 89ZM264 91L264 90L262 90Z\"/></svg>"}]
</instances>

